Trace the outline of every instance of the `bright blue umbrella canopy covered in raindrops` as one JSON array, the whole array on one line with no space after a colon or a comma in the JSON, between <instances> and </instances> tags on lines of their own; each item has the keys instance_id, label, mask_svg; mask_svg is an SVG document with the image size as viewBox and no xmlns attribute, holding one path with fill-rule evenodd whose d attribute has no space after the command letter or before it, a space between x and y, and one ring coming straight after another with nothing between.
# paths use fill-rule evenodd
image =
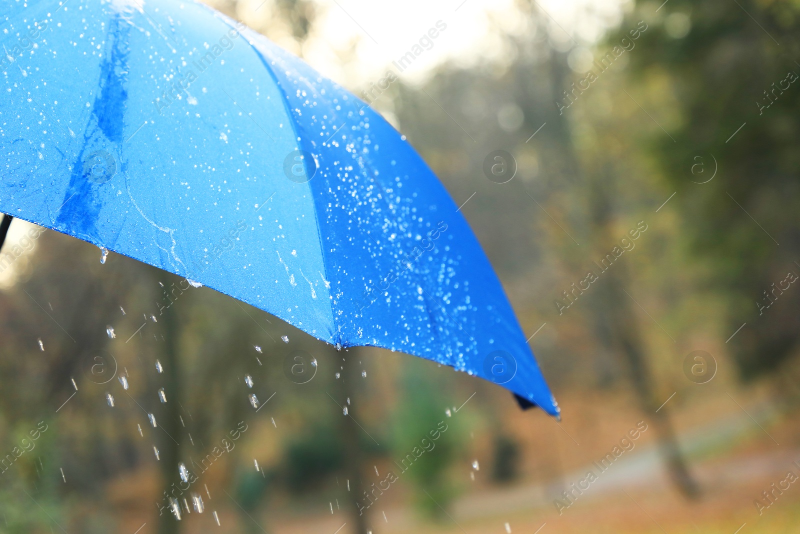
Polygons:
<instances>
[{"instance_id":1,"label":"bright blue umbrella canopy covered in raindrops","mask_svg":"<svg viewBox=\"0 0 800 534\"><path fill-rule=\"evenodd\" d=\"M196 2L5 11L0 211L558 413L455 203L358 98Z\"/></svg>"}]
</instances>

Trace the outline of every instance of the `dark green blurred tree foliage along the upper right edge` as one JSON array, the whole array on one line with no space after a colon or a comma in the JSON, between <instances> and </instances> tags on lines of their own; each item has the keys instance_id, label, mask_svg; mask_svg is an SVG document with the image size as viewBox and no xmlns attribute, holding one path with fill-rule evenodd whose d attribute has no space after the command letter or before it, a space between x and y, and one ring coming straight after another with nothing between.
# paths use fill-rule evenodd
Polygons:
<instances>
[{"instance_id":1,"label":"dark green blurred tree foliage along the upper right edge","mask_svg":"<svg viewBox=\"0 0 800 534\"><path fill-rule=\"evenodd\" d=\"M741 376L755 379L800 341L800 290L782 282L800 274L800 7L673 0L656 13L637 2L622 27L638 18L652 30L628 81L677 115L676 142L646 147L678 192L708 282L726 295L723 335L738 332L727 346Z\"/></svg>"}]
</instances>

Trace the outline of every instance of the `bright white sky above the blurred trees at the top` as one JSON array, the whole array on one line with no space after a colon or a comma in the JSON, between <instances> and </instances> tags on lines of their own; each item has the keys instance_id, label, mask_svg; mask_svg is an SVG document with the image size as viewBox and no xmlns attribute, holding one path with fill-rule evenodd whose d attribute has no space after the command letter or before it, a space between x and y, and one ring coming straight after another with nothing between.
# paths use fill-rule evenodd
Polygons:
<instances>
[{"instance_id":1,"label":"bright white sky above the blurred trees at the top","mask_svg":"<svg viewBox=\"0 0 800 534\"><path fill-rule=\"evenodd\" d=\"M520 0L524 2L533 0ZM252 8L263 0L250 0ZM366 86L386 73L391 62L406 54L438 21L446 30L433 46L402 73L405 82L421 82L435 66L454 60L469 66L481 58L502 58L498 30L522 34L533 29L514 0L316 0L318 33L302 50L306 61L346 86ZM626 0L536 0L546 14L551 40L569 49L573 40L591 45L606 28L618 24ZM258 14L270 9L269 0ZM563 30L562 30L563 28ZM566 32L569 32L567 34ZM286 43L279 42L286 45ZM357 61L345 65L354 49ZM338 55L342 54L342 56ZM396 69L395 69L396 70Z\"/></svg>"}]
</instances>

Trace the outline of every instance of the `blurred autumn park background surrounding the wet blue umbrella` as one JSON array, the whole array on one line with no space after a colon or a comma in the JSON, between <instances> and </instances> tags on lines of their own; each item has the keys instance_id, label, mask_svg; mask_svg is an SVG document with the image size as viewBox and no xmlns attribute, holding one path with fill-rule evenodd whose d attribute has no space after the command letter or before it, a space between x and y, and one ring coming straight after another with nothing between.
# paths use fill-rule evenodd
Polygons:
<instances>
[{"instance_id":1,"label":"blurred autumn park background surrounding the wet blue umbrella","mask_svg":"<svg viewBox=\"0 0 800 534\"><path fill-rule=\"evenodd\" d=\"M0 532L797 531L798 2L209 3L407 136L563 420L15 220Z\"/></svg>"}]
</instances>

